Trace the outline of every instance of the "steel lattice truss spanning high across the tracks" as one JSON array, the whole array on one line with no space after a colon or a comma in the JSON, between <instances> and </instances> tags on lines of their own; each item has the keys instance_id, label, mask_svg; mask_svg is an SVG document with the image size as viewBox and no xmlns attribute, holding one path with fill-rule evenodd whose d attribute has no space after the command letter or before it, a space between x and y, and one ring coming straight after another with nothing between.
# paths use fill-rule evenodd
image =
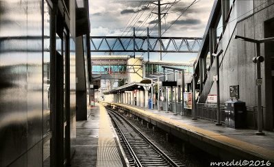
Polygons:
<instances>
[{"instance_id":1,"label":"steel lattice truss spanning high across the tracks","mask_svg":"<svg viewBox=\"0 0 274 167\"><path fill-rule=\"evenodd\" d=\"M193 37L90 36L90 52L197 53L201 40Z\"/></svg>"}]
</instances>

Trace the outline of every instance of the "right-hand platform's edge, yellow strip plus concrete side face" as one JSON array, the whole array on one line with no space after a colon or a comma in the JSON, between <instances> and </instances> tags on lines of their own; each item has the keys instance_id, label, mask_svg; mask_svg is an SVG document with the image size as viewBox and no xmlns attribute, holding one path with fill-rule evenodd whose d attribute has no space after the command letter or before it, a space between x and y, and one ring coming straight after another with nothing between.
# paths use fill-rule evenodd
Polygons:
<instances>
[{"instance_id":1,"label":"right-hand platform's edge, yellow strip plus concrete side face","mask_svg":"<svg viewBox=\"0 0 274 167\"><path fill-rule=\"evenodd\" d=\"M121 103L102 103L111 107L125 110L146 120L147 122L199 147L216 157L224 160L231 159L256 159L274 162L274 151L261 146L229 138L214 131L188 125L171 118L153 114L145 110Z\"/></svg>"}]
</instances>

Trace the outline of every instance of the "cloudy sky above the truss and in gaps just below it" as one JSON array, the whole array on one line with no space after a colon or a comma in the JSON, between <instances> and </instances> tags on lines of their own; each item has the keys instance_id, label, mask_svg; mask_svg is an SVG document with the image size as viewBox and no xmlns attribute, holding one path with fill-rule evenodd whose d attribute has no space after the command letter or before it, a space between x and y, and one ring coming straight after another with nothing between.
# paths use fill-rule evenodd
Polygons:
<instances>
[{"instance_id":1,"label":"cloudy sky above the truss and in gaps just below it","mask_svg":"<svg viewBox=\"0 0 274 167\"><path fill-rule=\"evenodd\" d=\"M197 0L186 10L193 1L161 1L161 3L170 3L170 5L162 5L161 8L161 13L167 13L162 14L162 33L173 24L163 36L203 36L214 0ZM150 36L158 36L158 16L151 14L158 12L158 8L149 2L151 1L91 0L90 36L131 36L133 27L136 27L136 36L146 36L147 27L151 31ZM179 60L188 61L196 57L196 54L182 53L166 55L163 53L163 55L163 60L177 60L179 57ZM146 53L143 56L146 58ZM158 53L151 56L152 59L158 59Z\"/></svg>"}]
</instances>

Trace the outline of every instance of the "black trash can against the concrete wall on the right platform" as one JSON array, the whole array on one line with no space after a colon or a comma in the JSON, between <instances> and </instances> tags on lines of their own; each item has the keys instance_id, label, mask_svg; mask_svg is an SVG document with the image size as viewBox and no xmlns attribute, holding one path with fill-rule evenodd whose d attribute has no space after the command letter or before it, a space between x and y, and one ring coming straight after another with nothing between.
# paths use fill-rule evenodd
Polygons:
<instances>
[{"instance_id":1,"label":"black trash can against the concrete wall on the right platform","mask_svg":"<svg viewBox=\"0 0 274 167\"><path fill-rule=\"evenodd\" d=\"M232 128L245 128L247 120L247 107L242 101L225 102L225 125Z\"/></svg>"}]
</instances>

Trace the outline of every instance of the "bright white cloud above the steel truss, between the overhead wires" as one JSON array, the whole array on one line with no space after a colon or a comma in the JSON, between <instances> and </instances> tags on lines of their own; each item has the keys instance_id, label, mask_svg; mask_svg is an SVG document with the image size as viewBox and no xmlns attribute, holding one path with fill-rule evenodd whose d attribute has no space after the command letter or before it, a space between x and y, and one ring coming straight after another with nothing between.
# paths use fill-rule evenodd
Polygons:
<instances>
[{"instance_id":1,"label":"bright white cloud above the steel truss, between the overhead wires","mask_svg":"<svg viewBox=\"0 0 274 167\"><path fill-rule=\"evenodd\" d=\"M179 3L174 5L169 12L177 11L186 6L190 5L193 0L181 0ZM163 0L161 3L174 2L174 0ZM158 26L155 24L148 24L150 21L153 21L154 18L157 18L157 15L150 14L150 11L154 8L154 5L150 5L150 10L145 10L141 15L142 11L139 13L129 13L121 14L123 10L134 10L137 11L142 7L140 5L147 5L147 2L143 1L117 1L117 0L92 0L90 1L90 34L91 36L121 36L123 30L127 23L131 22L130 18L134 18L134 21L129 26L127 31L123 34L130 35L133 32L133 27L140 29L137 32L137 35L140 34L143 30L142 36L146 36L147 30L149 27L151 36L158 35ZM197 24L195 25L180 25L174 24L170 29L168 29L164 36L192 36L192 37L201 37L206 29L206 24L208 23L208 18L210 16L210 11L212 9L214 1L213 0L200 0L195 5L192 5L188 11L186 11L179 20L193 20L197 19ZM138 8L138 6L140 7ZM164 6L162 7L164 8ZM165 10L166 11L166 10ZM153 10L157 12L157 8ZM162 18L162 32L165 31L165 28L169 27L171 21L175 21L182 12L173 12L168 14L166 19ZM133 17L132 17L133 16ZM145 18L147 19L146 23ZM138 18L138 19L137 19ZM135 25L134 25L135 23ZM155 27L154 27L155 26ZM154 27L154 28L153 28ZM127 33L129 31L129 33Z\"/></svg>"}]
</instances>

